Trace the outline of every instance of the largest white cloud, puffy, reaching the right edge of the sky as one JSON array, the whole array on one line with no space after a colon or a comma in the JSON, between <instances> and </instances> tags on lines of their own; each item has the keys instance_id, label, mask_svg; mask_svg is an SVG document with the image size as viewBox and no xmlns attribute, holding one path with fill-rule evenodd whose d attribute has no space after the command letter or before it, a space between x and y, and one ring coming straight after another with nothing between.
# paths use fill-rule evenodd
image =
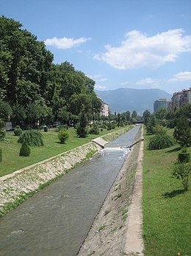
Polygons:
<instances>
[{"instance_id":1,"label":"largest white cloud, puffy, reaching the right edge of the sky","mask_svg":"<svg viewBox=\"0 0 191 256\"><path fill-rule=\"evenodd\" d=\"M95 55L115 69L156 68L173 62L182 52L191 51L191 36L183 36L184 30L168 30L148 37L140 31L126 33L126 40L119 47L105 46L107 52Z\"/></svg>"}]
</instances>

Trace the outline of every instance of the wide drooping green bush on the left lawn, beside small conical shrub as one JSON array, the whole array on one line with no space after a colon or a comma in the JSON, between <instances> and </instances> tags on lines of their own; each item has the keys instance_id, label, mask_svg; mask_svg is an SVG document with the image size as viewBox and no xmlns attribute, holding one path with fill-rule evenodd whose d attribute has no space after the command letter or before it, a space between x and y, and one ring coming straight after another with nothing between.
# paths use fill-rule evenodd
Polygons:
<instances>
[{"instance_id":1,"label":"wide drooping green bush on the left lawn, beside small conical shrub","mask_svg":"<svg viewBox=\"0 0 191 256\"><path fill-rule=\"evenodd\" d=\"M19 139L19 143L26 142L29 146L40 147L43 146L43 135L39 131L28 130L24 131Z\"/></svg>"}]
</instances>

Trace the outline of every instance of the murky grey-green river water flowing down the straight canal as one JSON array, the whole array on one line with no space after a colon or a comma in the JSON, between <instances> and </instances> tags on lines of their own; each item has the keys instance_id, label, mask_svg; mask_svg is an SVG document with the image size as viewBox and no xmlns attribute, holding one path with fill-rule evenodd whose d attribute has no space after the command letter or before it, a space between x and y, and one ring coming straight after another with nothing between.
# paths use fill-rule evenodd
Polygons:
<instances>
[{"instance_id":1,"label":"murky grey-green river water flowing down the straight canal","mask_svg":"<svg viewBox=\"0 0 191 256\"><path fill-rule=\"evenodd\" d=\"M0 255L76 256L139 128L1 218Z\"/></svg>"}]
</instances>

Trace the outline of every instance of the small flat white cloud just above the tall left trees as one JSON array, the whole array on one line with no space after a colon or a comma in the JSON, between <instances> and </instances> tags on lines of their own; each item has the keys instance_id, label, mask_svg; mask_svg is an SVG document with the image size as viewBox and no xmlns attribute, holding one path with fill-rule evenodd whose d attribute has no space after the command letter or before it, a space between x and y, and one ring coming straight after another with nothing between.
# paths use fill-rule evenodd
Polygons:
<instances>
[{"instance_id":1,"label":"small flat white cloud just above the tall left trees","mask_svg":"<svg viewBox=\"0 0 191 256\"><path fill-rule=\"evenodd\" d=\"M45 41L45 44L48 46L56 46L58 49L70 49L73 46L83 44L87 41L90 41L92 38L48 38Z\"/></svg>"}]
</instances>

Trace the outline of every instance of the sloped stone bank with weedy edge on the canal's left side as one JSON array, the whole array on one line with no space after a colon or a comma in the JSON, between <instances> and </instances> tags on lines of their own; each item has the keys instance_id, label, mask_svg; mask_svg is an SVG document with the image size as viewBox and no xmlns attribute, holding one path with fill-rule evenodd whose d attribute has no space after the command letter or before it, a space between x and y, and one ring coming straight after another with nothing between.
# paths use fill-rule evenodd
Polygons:
<instances>
[{"instance_id":1,"label":"sloped stone bank with weedy edge on the canal's left side","mask_svg":"<svg viewBox=\"0 0 191 256\"><path fill-rule=\"evenodd\" d=\"M115 139L129 131L130 128L120 129L110 135L102 136L102 138L107 141ZM89 142L71 151L0 177L0 217L100 150L101 146Z\"/></svg>"}]
</instances>

